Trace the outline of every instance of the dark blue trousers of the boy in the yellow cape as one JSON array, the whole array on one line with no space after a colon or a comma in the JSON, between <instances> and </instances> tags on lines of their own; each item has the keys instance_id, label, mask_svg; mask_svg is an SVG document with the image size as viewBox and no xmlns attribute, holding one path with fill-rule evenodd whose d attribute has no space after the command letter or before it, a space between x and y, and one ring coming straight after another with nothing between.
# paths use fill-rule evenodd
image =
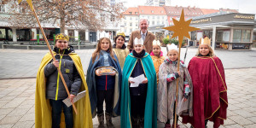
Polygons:
<instances>
[{"instance_id":1,"label":"dark blue trousers of the boy in the yellow cape","mask_svg":"<svg viewBox=\"0 0 256 128\"><path fill-rule=\"evenodd\" d=\"M60 128L61 123L61 110L63 108L63 113L65 115L66 128L73 128L73 108L70 106L67 108L66 104L62 100L51 100L49 99L51 105L51 117L52 117L52 128Z\"/></svg>"}]
</instances>

